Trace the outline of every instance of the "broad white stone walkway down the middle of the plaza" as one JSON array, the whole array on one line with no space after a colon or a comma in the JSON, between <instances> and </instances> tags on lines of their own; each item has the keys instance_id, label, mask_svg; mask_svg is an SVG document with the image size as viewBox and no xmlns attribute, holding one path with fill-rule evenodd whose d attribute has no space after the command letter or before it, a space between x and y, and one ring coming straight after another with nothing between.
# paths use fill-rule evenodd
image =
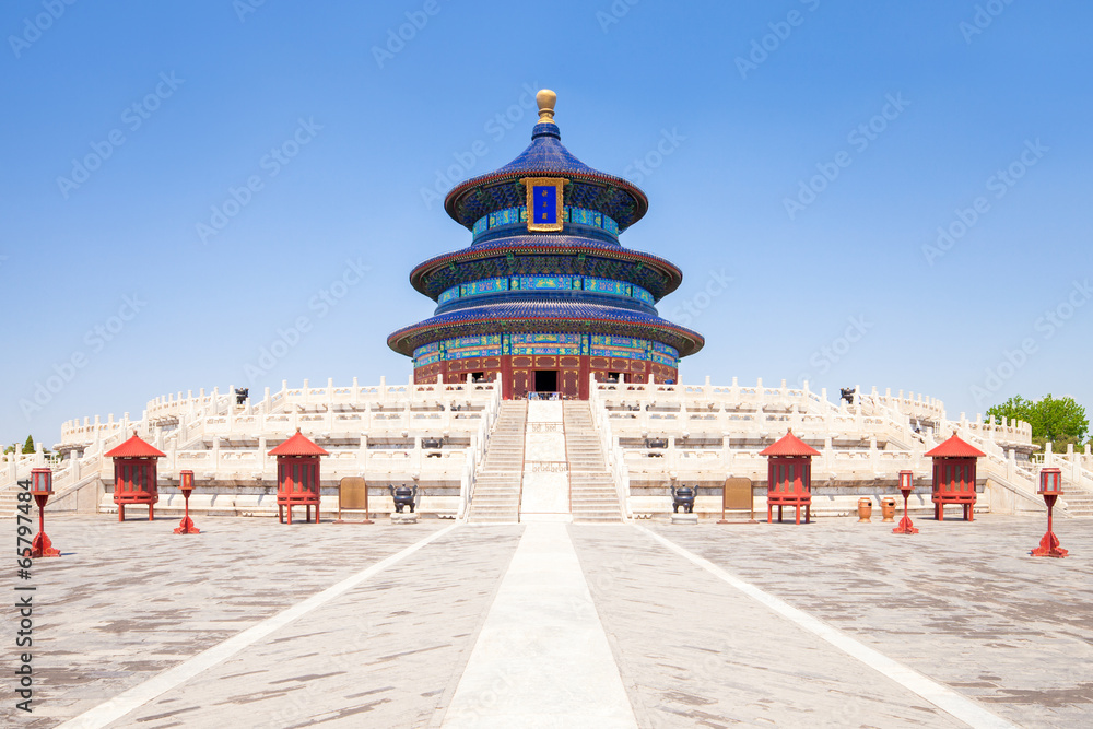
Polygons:
<instances>
[{"instance_id":1,"label":"broad white stone walkway down the middle of the plaza","mask_svg":"<svg viewBox=\"0 0 1093 729\"><path fill-rule=\"evenodd\" d=\"M565 525L526 528L442 726L637 726Z\"/></svg>"}]
</instances>

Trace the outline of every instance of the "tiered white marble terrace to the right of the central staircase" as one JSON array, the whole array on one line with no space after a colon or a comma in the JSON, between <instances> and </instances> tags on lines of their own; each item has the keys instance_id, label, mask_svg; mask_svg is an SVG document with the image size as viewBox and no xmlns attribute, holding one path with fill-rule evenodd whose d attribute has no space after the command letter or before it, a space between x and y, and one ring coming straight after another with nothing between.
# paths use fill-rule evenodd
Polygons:
<instances>
[{"instance_id":1,"label":"tiered white marble terrace to the right of the central staircase","mask_svg":"<svg viewBox=\"0 0 1093 729\"><path fill-rule=\"evenodd\" d=\"M705 385L678 386L596 383L591 401L631 517L670 510L672 477L697 482L695 510L719 516L724 479L750 478L765 489L766 458L759 452L790 428L821 452L812 465L813 509L821 516L849 514L860 496L875 503L897 494L896 477L905 469L915 473L913 508L928 507L932 461L922 454L953 433L987 454L978 463L986 498L977 508L1043 509L1036 490L1044 466L1062 468L1066 486L1093 491L1089 447L1083 455L1071 448L1030 460L1036 446L1027 423L985 422L982 415L969 421L964 413L951 421L935 398L856 389L848 405L834 404L826 390L812 392L807 383L789 388L785 380L778 387L762 380L741 386L736 378L729 386L710 385L708 378ZM755 507L765 516L762 489L755 491Z\"/></svg>"}]
</instances>

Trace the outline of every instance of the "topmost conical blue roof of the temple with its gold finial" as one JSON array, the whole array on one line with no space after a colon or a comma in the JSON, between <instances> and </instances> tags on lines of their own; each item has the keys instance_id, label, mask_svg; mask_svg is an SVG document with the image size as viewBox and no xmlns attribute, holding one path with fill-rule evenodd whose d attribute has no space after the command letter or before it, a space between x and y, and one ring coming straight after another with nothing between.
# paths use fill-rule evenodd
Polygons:
<instances>
[{"instance_id":1,"label":"topmost conical blue roof of the temple with its gold finial","mask_svg":"<svg viewBox=\"0 0 1093 729\"><path fill-rule=\"evenodd\" d=\"M521 205L525 202L520 178L527 176L565 177L565 204L596 210L609 215L624 231L645 215L649 199L633 183L592 169L573 156L562 144L562 132L554 124L555 94L542 90L539 124L531 130L531 144L504 167L460 183L448 192L444 209L460 225L471 230L483 215Z\"/></svg>"}]
</instances>

